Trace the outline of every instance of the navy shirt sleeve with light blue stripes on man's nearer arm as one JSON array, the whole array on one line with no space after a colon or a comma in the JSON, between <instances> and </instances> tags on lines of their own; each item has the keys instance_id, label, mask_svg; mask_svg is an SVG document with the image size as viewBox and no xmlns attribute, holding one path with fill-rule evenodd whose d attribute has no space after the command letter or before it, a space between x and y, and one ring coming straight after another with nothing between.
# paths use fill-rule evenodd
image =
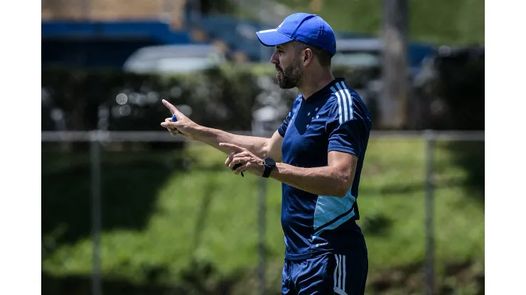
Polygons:
<instances>
[{"instance_id":1,"label":"navy shirt sleeve with light blue stripes on man's nearer arm","mask_svg":"<svg viewBox=\"0 0 526 295\"><path fill-rule=\"evenodd\" d=\"M352 108L340 109L335 104L328 111L326 131L328 133L328 150L349 152L360 157L362 143L365 140L365 126L360 117L355 116Z\"/></svg>"}]
</instances>

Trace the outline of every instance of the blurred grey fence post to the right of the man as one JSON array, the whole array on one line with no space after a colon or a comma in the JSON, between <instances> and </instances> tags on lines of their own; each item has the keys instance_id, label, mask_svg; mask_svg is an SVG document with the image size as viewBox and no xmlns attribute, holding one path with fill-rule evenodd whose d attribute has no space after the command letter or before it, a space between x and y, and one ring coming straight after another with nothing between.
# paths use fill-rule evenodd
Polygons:
<instances>
[{"instance_id":1,"label":"blurred grey fence post to the right of the man","mask_svg":"<svg viewBox=\"0 0 526 295\"><path fill-rule=\"evenodd\" d=\"M424 260L424 294L434 294L434 142L435 135L433 131L426 130L424 133L426 140L426 194L424 200L425 206L425 239L426 239L426 256Z\"/></svg>"}]
</instances>

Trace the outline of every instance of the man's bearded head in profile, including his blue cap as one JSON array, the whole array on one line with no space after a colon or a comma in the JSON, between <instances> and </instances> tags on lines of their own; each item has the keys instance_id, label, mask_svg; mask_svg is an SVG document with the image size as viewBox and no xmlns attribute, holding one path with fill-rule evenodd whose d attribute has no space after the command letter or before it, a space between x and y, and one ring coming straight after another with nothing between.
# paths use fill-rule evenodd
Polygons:
<instances>
[{"instance_id":1,"label":"man's bearded head in profile, including his blue cap","mask_svg":"<svg viewBox=\"0 0 526 295\"><path fill-rule=\"evenodd\" d=\"M294 13L276 29L257 32L266 46L275 46L270 61L276 65L279 87L297 87L311 71L330 69L331 57L336 53L336 36L323 18Z\"/></svg>"}]
</instances>

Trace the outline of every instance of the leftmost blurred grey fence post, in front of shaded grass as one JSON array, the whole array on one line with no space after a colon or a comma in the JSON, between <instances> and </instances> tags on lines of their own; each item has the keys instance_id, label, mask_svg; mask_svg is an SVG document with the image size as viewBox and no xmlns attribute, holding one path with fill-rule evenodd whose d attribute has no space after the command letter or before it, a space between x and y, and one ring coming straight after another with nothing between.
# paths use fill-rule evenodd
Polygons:
<instances>
[{"instance_id":1,"label":"leftmost blurred grey fence post, in front of shaded grass","mask_svg":"<svg viewBox=\"0 0 526 295\"><path fill-rule=\"evenodd\" d=\"M92 294L102 295L100 274L101 185L100 185L100 138L94 133L90 142L91 202L92 202Z\"/></svg>"}]
</instances>

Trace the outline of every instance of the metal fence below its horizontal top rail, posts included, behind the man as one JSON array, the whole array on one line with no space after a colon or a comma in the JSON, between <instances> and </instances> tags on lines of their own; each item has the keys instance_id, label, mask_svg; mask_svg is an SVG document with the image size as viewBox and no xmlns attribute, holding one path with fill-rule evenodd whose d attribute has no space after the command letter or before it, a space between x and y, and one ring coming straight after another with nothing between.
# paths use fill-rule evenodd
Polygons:
<instances>
[{"instance_id":1,"label":"metal fence below its horizontal top rail, posts included, behind the man","mask_svg":"<svg viewBox=\"0 0 526 295\"><path fill-rule=\"evenodd\" d=\"M483 133L372 133L367 294L483 294L483 150ZM224 161L163 132L43 132L43 293L279 294L281 185Z\"/></svg>"}]
</instances>

